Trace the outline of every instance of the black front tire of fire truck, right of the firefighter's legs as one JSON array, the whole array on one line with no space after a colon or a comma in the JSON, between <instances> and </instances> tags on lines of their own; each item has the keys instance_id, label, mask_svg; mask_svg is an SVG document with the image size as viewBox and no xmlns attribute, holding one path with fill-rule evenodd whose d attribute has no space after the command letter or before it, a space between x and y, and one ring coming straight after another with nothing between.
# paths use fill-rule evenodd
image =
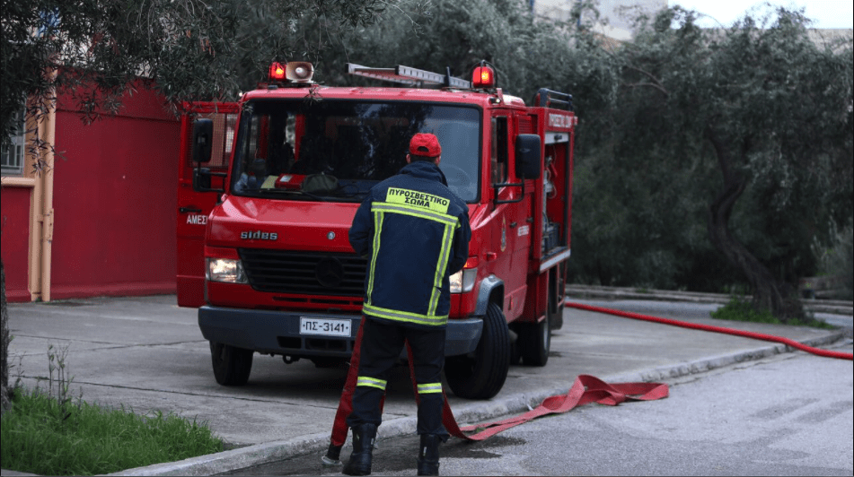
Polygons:
<instances>
[{"instance_id":1,"label":"black front tire of fire truck, right of the firefighter's legs","mask_svg":"<svg viewBox=\"0 0 854 477\"><path fill-rule=\"evenodd\" d=\"M498 394L510 369L510 334L501 308L489 303L477 349L445 360L445 377L454 395L489 399Z\"/></svg>"}]
</instances>

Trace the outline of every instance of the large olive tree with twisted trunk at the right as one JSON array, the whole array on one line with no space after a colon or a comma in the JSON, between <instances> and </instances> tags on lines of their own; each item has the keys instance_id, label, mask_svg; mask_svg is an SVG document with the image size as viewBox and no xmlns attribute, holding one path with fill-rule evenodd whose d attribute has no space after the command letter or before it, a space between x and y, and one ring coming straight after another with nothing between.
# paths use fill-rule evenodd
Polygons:
<instances>
[{"instance_id":1,"label":"large olive tree with twisted trunk at the right","mask_svg":"<svg viewBox=\"0 0 854 477\"><path fill-rule=\"evenodd\" d=\"M639 19L636 39L614 52L621 88L600 141L638 170L700 173L694 188L674 181L686 197L717 182L706 198L709 241L757 307L803 317L787 271L851 220L850 39L815 41L803 14L786 9L724 30L695 18L674 7Z\"/></svg>"}]
</instances>

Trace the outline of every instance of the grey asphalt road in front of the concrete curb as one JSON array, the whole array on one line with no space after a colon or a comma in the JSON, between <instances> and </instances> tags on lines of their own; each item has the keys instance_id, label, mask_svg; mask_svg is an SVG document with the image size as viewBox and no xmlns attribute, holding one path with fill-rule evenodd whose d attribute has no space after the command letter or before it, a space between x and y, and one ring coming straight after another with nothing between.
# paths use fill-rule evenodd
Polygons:
<instances>
[{"instance_id":1,"label":"grey asphalt road in front of the concrete curb","mask_svg":"<svg viewBox=\"0 0 854 477\"><path fill-rule=\"evenodd\" d=\"M832 349L852 351L851 341ZM445 475L847 475L854 374L849 360L775 355L665 380L660 401L588 404L493 438L442 447ZM414 475L418 440L374 453L374 475ZM348 453L343 455L346 457ZM339 475L318 455L229 475Z\"/></svg>"}]
</instances>

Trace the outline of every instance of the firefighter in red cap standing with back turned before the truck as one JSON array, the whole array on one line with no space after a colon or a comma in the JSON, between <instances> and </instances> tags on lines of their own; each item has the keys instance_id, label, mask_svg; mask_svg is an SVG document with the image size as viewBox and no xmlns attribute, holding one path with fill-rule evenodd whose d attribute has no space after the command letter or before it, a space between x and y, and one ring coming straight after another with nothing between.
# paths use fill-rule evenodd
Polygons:
<instances>
[{"instance_id":1,"label":"firefighter in red cap standing with back turned before the truck","mask_svg":"<svg viewBox=\"0 0 854 477\"><path fill-rule=\"evenodd\" d=\"M462 269L471 228L465 202L438 168L442 147L434 134L415 134L407 165L374 186L359 206L350 245L368 259L361 359L353 411L353 454L343 473L371 473L380 402L404 342L413 352L418 384L418 475L438 475L442 424L441 373L451 308L449 277Z\"/></svg>"}]
</instances>

